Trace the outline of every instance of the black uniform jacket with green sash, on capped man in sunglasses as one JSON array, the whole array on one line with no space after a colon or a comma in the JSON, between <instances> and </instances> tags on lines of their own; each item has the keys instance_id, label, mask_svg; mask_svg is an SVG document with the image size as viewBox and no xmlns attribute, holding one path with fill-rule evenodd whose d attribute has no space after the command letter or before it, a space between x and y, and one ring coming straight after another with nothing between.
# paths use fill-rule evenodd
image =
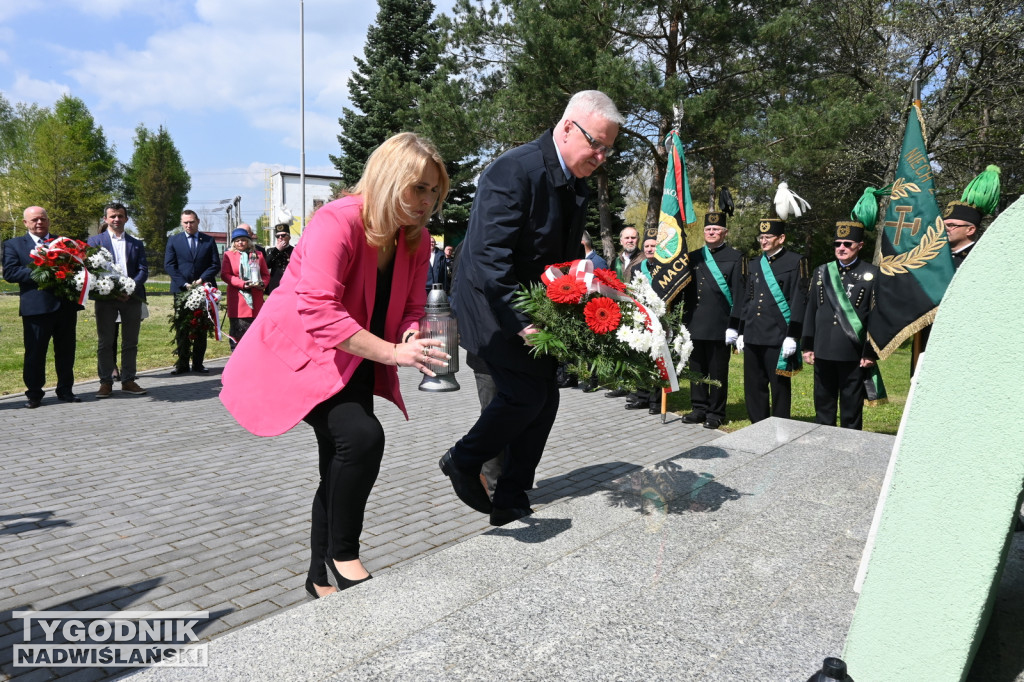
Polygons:
<instances>
[{"instance_id":1,"label":"black uniform jacket with green sash, on capped man in sunglasses","mask_svg":"<svg viewBox=\"0 0 1024 682\"><path fill-rule=\"evenodd\" d=\"M804 314L804 350L813 350L815 359L826 360L859 360L861 357L874 359L871 344L854 343L839 324L842 310L835 310L825 296L825 287L831 287L828 281L827 263L818 265L811 276L811 291L807 297L807 312ZM874 285L879 282L879 268L863 259L848 268L840 265L840 281L846 289L854 311L864 328L867 328L868 315L874 307Z\"/></svg>"}]
</instances>

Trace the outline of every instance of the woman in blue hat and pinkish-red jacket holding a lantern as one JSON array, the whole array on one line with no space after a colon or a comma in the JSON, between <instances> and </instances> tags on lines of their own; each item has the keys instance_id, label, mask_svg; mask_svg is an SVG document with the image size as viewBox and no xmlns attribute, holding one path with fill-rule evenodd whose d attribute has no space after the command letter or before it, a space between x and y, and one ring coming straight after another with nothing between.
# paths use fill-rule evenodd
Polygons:
<instances>
[{"instance_id":1,"label":"woman in blue hat and pinkish-red jacket holding a lantern","mask_svg":"<svg viewBox=\"0 0 1024 682\"><path fill-rule=\"evenodd\" d=\"M237 227L231 231L231 248L220 261L220 279L227 285L227 340L231 350L263 307L263 290L270 282L263 254L253 247L249 232Z\"/></svg>"}]
</instances>

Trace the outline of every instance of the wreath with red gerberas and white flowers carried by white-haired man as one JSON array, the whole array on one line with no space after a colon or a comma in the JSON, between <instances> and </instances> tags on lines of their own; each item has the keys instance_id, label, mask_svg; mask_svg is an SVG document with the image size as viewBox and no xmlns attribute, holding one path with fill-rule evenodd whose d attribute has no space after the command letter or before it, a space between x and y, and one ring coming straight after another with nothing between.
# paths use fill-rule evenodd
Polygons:
<instances>
[{"instance_id":1,"label":"wreath with red gerberas and white flowers carried by white-haired man","mask_svg":"<svg viewBox=\"0 0 1024 682\"><path fill-rule=\"evenodd\" d=\"M682 306L667 313L642 273L626 286L611 270L574 260L549 266L542 283L515 298L539 329L530 336L531 352L565 363L579 377L627 390L678 390L680 377L711 382L686 369L693 344L681 322Z\"/></svg>"}]
</instances>

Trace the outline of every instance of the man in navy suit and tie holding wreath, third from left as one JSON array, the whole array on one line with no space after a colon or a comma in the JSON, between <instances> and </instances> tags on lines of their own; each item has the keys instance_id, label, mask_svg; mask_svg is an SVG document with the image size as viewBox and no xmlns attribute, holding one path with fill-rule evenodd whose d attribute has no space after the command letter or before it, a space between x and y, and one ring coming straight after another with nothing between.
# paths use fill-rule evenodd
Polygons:
<instances>
[{"instance_id":1,"label":"man in navy suit and tie holding wreath, third from left","mask_svg":"<svg viewBox=\"0 0 1024 682\"><path fill-rule=\"evenodd\" d=\"M199 231L199 216L195 211L186 210L181 214L181 229L167 240L167 251L164 254L164 270L171 275L171 292L180 296L193 287L202 287L204 283L215 285L217 272L220 271L220 254L213 238ZM206 335L200 334L194 342L184 334L179 334L177 341L178 361L171 374L188 372L188 358L191 358L193 372L209 372L203 367L206 355Z\"/></svg>"}]
</instances>

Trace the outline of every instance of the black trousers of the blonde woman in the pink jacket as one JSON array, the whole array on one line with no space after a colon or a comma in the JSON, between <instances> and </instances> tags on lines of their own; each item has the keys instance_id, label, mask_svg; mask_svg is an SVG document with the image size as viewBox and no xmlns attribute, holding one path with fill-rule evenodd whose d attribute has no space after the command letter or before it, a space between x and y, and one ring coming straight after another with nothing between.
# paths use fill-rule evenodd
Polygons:
<instances>
[{"instance_id":1,"label":"black trousers of the blonde woman in the pink jacket","mask_svg":"<svg viewBox=\"0 0 1024 682\"><path fill-rule=\"evenodd\" d=\"M313 408L319 486L313 496L309 577L328 585L328 559L359 558L367 500L384 457L384 428L374 416L373 363L362 360L348 384Z\"/></svg>"}]
</instances>

